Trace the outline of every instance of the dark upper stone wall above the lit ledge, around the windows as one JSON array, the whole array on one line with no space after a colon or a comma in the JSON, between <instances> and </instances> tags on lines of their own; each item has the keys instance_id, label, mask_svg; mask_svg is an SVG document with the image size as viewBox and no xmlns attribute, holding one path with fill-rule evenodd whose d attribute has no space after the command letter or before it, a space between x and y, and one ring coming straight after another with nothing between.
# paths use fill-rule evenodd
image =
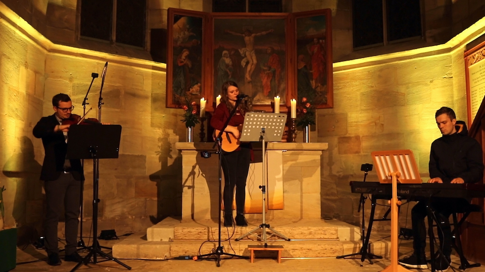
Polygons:
<instances>
[{"instance_id":1,"label":"dark upper stone wall above the lit ledge, around the windows","mask_svg":"<svg viewBox=\"0 0 485 272\"><path fill-rule=\"evenodd\" d=\"M9 8L32 25L42 35L55 43L96 51L151 59L150 42L145 50L123 46L107 45L79 38L77 0L3 0ZM147 40L151 40L152 29L167 28L169 8L200 12L211 12L211 0L147 0ZM352 43L352 1L351 0L284 0L283 10L287 13L319 9L332 10L333 60L342 61L382 53L409 50L430 44L445 43L474 22L485 16L485 4L474 0L423 0L424 41L409 41L388 48L372 48L353 52Z\"/></svg>"}]
</instances>

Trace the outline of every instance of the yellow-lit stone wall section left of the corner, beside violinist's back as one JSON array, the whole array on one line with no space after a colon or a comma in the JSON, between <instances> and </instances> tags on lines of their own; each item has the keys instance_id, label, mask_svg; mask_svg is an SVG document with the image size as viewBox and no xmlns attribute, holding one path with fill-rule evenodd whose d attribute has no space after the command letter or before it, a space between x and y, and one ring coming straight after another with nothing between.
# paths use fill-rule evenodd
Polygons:
<instances>
[{"instance_id":1,"label":"yellow-lit stone wall section left of the corner, beside violinist's back","mask_svg":"<svg viewBox=\"0 0 485 272\"><path fill-rule=\"evenodd\" d=\"M0 187L6 188L5 226L18 226L24 236L40 228L43 216L42 144L34 140L32 125L42 115L47 51L1 17Z\"/></svg>"}]
</instances>

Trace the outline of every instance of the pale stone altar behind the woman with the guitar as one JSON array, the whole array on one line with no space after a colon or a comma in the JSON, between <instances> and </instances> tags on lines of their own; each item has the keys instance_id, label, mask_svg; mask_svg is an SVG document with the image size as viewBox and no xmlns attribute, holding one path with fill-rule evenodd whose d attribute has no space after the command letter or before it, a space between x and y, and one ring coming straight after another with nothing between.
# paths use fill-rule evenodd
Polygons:
<instances>
[{"instance_id":1,"label":"pale stone altar behind the woman with the guitar","mask_svg":"<svg viewBox=\"0 0 485 272\"><path fill-rule=\"evenodd\" d=\"M216 220L219 216L218 156L214 154L206 159L200 155L201 151L215 151L213 144L175 144L175 148L182 153L182 222ZM267 160L268 180L282 179L284 199L282 210L267 211L268 220L321 218L320 160L323 150L327 148L327 143L267 143L268 154L281 154L281 160ZM261 143L253 145L253 149L256 161L260 158L260 162L255 163L254 173L248 175L248 181L253 179L251 182L259 185L262 183L262 174L259 174L262 171ZM261 190L257 191L259 193L250 195L250 201L261 201ZM268 190L268 198L269 194ZM258 214L254 216L258 217Z\"/></svg>"}]
</instances>

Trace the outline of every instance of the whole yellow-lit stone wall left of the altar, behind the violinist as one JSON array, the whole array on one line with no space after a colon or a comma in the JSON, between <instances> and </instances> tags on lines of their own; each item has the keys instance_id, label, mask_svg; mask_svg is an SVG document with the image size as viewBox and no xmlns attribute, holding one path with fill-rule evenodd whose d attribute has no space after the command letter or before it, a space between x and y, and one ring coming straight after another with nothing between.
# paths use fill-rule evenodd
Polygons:
<instances>
[{"instance_id":1,"label":"whole yellow-lit stone wall left of the altar, behind the violinist","mask_svg":"<svg viewBox=\"0 0 485 272\"><path fill-rule=\"evenodd\" d=\"M102 121L123 129L119 158L100 161L99 230L144 231L167 216L179 216L181 160L173 146L185 138L185 127L180 110L164 106L165 64L56 45L5 6L0 14L0 186L7 189L6 226L18 226L24 242L41 234L44 154L32 128L41 116L54 113L51 100L61 92L70 95L73 113L82 115L91 73L101 75L105 61ZM90 89L88 117L98 117L100 89L98 78ZM92 216L90 160L85 176L84 236Z\"/></svg>"}]
</instances>

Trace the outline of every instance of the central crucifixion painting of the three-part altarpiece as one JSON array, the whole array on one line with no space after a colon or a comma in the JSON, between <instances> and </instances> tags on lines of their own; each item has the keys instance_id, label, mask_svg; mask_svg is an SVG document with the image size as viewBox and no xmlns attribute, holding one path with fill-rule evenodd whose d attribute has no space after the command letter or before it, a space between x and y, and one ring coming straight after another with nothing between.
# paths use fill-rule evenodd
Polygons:
<instances>
[{"instance_id":1,"label":"central crucifixion painting of the three-part altarpiece","mask_svg":"<svg viewBox=\"0 0 485 272\"><path fill-rule=\"evenodd\" d=\"M214 97L232 80L253 104L285 103L285 37L284 19L214 19Z\"/></svg>"}]
</instances>

